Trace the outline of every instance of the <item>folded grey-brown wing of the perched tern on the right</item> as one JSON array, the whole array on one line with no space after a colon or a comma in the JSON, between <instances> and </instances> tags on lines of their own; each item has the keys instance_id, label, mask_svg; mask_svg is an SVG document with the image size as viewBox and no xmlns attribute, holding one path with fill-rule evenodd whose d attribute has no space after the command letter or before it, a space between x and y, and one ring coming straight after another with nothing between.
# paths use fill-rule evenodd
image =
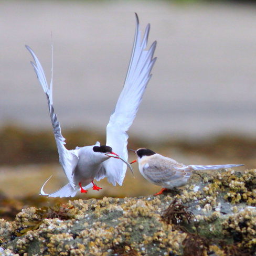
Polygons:
<instances>
[{"instance_id":1,"label":"folded grey-brown wing of the perched tern on the right","mask_svg":"<svg viewBox=\"0 0 256 256\"><path fill-rule=\"evenodd\" d=\"M154 161L143 168L145 176L156 184L170 183L174 180L183 179L186 176L184 169L174 167L173 163L161 159L161 161Z\"/></svg>"}]
</instances>

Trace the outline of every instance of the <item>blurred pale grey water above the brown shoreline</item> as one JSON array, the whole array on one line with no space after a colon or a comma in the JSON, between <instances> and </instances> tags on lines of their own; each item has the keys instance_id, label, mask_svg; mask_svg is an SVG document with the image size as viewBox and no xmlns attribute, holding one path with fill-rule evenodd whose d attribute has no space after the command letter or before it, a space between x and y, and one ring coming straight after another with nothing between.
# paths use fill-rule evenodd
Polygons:
<instances>
[{"instance_id":1,"label":"blurred pale grey water above the brown shoreline","mask_svg":"<svg viewBox=\"0 0 256 256\"><path fill-rule=\"evenodd\" d=\"M157 40L153 77L130 135L256 135L253 6L133 1L0 1L0 125L51 129L25 45L50 81L61 127L105 129L132 50L134 12Z\"/></svg>"}]
</instances>

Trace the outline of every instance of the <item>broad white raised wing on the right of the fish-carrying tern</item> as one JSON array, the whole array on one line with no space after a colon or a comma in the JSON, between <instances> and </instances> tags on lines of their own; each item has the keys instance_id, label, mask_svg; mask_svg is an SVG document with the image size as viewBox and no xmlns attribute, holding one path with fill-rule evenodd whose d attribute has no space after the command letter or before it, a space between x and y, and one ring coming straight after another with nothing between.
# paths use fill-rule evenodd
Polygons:
<instances>
[{"instance_id":1,"label":"broad white raised wing on the right of the fish-carrying tern","mask_svg":"<svg viewBox=\"0 0 256 256\"><path fill-rule=\"evenodd\" d=\"M106 145L113 148L113 152L128 158L126 131L131 126L138 106L141 103L143 93L147 83L151 78L151 69L156 61L153 59L156 48L156 41L153 42L149 50L144 50L147 46L150 24L147 25L143 40L141 41L141 31L136 14L136 31L129 68L126 74L123 90L116 103L115 110L110 116L109 124L106 126ZM127 166L120 160L110 158L103 163L106 177L109 183L114 186L116 182L123 183Z\"/></svg>"}]
</instances>

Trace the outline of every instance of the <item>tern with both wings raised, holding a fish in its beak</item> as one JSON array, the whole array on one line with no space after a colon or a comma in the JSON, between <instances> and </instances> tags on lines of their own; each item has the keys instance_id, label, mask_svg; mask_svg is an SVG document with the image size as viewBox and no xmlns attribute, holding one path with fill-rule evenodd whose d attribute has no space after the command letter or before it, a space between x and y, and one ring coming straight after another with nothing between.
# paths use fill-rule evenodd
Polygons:
<instances>
[{"instance_id":1,"label":"tern with both wings raised, holding a fish in its beak","mask_svg":"<svg viewBox=\"0 0 256 256\"><path fill-rule=\"evenodd\" d=\"M122 185L127 166L127 138L126 131L129 130L138 106L141 103L143 93L152 74L151 70L154 66L156 58L153 59L156 48L156 41L153 42L149 50L145 50L147 46L147 38L150 31L150 24L147 25L143 39L141 40L141 31L136 15L136 30L133 44L132 55L129 68L126 74L123 90L116 103L115 109L110 116L110 121L106 126L106 145L101 146L99 142L92 146L76 147L75 150L67 150L65 147L65 138L61 135L60 124L54 112L52 104L52 70L50 87L46 81L44 70L34 54L28 46L26 48L33 56L35 63L31 62L37 78L46 93L51 124L54 128L54 136L59 153L59 162L68 178L69 183L54 193L46 194L44 186L41 188L41 195L48 197L74 197L80 189L81 193L87 193L87 188L101 189L94 184L93 180L100 180L104 177L108 178L108 182L114 186L116 182ZM113 150L114 152L113 152ZM119 158L121 161L116 161ZM126 165L127 166L126 166Z\"/></svg>"}]
</instances>

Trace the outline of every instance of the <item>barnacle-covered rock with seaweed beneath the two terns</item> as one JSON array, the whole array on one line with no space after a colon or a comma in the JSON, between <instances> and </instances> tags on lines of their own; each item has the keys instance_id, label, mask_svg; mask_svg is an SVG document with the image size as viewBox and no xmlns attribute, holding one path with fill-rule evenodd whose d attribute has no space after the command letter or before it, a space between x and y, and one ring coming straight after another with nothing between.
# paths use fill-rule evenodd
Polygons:
<instances>
[{"instance_id":1,"label":"barnacle-covered rock with seaweed beneath the two terns","mask_svg":"<svg viewBox=\"0 0 256 256\"><path fill-rule=\"evenodd\" d=\"M0 220L0 255L254 255L255 188L256 170L197 171L156 197L26 208Z\"/></svg>"}]
</instances>

